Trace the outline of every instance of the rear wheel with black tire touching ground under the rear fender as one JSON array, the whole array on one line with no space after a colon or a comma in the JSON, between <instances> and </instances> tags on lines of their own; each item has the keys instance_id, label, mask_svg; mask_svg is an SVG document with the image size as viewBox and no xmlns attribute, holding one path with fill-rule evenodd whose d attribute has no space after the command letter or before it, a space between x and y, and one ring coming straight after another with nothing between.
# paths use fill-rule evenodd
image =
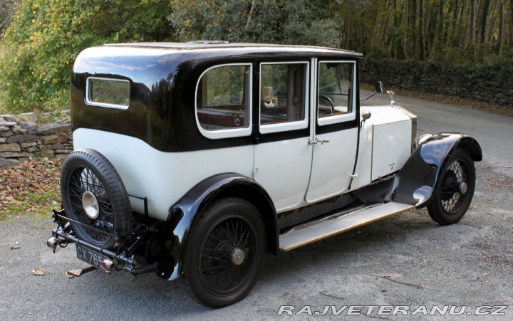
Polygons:
<instances>
[{"instance_id":1,"label":"rear wheel with black tire touching ground under the rear fender","mask_svg":"<svg viewBox=\"0 0 513 321\"><path fill-rule=\"evenodd\" d=\"M183 280L197 302L224 307L244 298L264 265L266 235L259 211L248 201L214 201L193 224Z\"/></svg>"}]
</instances>

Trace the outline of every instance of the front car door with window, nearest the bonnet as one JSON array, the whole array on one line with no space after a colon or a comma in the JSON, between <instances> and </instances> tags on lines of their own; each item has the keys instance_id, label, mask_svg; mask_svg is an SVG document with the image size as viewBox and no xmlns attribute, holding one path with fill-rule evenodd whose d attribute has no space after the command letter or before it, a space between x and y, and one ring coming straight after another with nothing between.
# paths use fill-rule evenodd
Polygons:
<instances>
[{"instance_id":1,"label":"front car door with window, nearest the bonnet","mask_svg":"<svg viewBox=\"0 0 513 321\"><path fill-rule=\"evenodd\" d=\"M358 146L356 61L314 60L316 108L311 115L314 135L308 203L348 191Z\"/></svg>"}]
</instances>

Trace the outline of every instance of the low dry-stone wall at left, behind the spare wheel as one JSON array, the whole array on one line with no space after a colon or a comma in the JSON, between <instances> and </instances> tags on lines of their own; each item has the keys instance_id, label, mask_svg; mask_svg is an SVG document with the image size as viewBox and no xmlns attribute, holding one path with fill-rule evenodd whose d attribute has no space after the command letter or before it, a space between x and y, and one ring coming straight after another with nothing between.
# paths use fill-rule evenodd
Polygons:
<instances>
[{"instance_id":1,"label":"low dry-stone wall at left, behind the spare wheel","mask_svg":"<svg viewBox=\"0 0 513 321\"><path fill-rule=\"evenodd\" d=\"M71 121L36 125L33 113L0 115L0 167L31 157L64 158L73 151Z\"/></svg>"}]
</instances>

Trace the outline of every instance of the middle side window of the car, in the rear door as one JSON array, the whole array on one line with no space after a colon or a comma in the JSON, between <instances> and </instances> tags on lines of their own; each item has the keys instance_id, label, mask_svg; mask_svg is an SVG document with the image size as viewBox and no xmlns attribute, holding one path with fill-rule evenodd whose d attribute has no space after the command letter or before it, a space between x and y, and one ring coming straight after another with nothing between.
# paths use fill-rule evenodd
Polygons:
<instances>
[{"instance_id":1,"label":"middle side window of the car, in the rear door","mask_svg":"<svg viewBox=\"0 0 513 321\"><path fill-rule=\"evenodd\" d=\"M308 63L262 63L260 66L260 132L308 127Z\"/></svg>"}]
</instances>

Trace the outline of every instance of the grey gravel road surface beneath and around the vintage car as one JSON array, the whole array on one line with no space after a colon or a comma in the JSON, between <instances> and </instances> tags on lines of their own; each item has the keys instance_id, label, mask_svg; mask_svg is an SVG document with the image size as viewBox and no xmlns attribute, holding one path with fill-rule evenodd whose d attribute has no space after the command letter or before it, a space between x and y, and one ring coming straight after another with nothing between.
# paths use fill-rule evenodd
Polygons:
<instances>
[{"instance_id":1,"label":"grey gravel road surface beneath and around the vintage car","mask_svg":"<svg viewBox=\"0 0 513 321\"><path fill-rule=\"evenodd\" d=\"M371 103L382 100L388 98ZM319 312L326 305L405 305L411 310L426 305L428 311L433 305L450 305L457 307L455 312L463 306L468 307L465 312L506 305L506 316L487 320L512 320L513 118L401 96L395 100L419 116L420 134L467 132L482 144L475 199L460 223L442 227L425 209L408 211L279 257L268 256L247 298L212 310L192 300L180 281L165 282L152 274L135 279L95 270L67 278L67 270L87 267L76 258L74 246L51 253L45 245L51 219L22 216L0 221L0 319L309 320L320 316L277 313L281 305L294 306L294 312L305 306ZM36 268L46 274L34 275ZM377 316L352 318L369 317ZM423 317L400 313L379 318ZM441 318L456 317L438 315L433 320Z\"/></svg>"}]
</instances>

